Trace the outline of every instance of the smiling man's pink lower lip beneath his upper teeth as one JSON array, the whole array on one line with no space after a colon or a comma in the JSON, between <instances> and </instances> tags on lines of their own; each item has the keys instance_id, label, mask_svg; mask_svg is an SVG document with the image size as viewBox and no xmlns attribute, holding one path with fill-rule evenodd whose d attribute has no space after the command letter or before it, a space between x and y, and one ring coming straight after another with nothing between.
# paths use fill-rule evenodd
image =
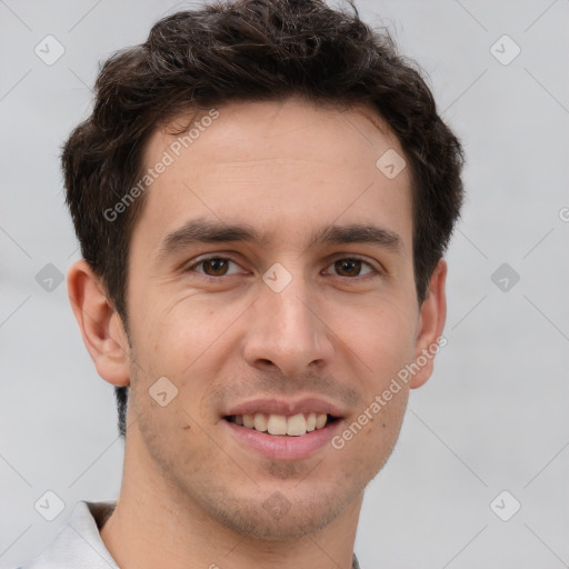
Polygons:
<instances>
[{"instance_id":1,"label":"smiling man's pink lower lip beneath his upper teeth","mask_svg":"<svg viewBox=\"0 0 569 569\"><path fill-rule=\"evenodd\" d=\"M224 419L222 419L222 422L231 429L231 432L238 437L240 441L267 458L300 460L310 457L319 449L326 447L339 430L341 420L337 419L322 429L307 432L300 437L269 435L267 432L241 427L240 425L226 421Z\"/></svg>"}]
</instances>

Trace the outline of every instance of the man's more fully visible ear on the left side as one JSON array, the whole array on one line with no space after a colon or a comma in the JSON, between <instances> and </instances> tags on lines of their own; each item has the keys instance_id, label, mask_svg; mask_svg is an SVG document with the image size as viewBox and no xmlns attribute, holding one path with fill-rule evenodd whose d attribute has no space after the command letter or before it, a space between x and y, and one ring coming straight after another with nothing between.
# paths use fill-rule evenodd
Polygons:
<instances>
[{"instance_id":1,"label":"man's more fully visible ear on the left side","mask_svg":"<svg viewBox=\"0 0 569 569\"><path fill-rule=\"evenodd\" d=\"M122 320L106 289L84 260L69 269L67 287L71 308L97 372L113 386L130 383L130 359Z\"/></svg>"}]
</instances>

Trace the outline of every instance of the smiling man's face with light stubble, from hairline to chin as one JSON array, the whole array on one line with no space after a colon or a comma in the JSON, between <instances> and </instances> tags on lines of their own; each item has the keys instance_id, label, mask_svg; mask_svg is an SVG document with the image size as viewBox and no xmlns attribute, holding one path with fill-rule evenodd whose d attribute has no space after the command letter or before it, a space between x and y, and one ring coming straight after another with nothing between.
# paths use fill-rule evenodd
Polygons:
<instances>
[{"instance_id":1,"label":"smiling man's face with light stubble, from hairline to chin","mask_svg":"<svg viewBox=\"0 0 569 569\"><path fill-rule=\"evenodd\" d=\"M174 160L131 240L127 452L174 503L286 539L361 498L398 437L407 386L332 445L417 356L410 177L378 169L403 152L361 109L288 100L219 113L178 158L163 131L147 147L148 168L164 150ZM196 222L263 240L179 232ZM349 226L379 231L330 230ZM326 426L299 435L311 413ZM295 435L262 432L267 421Z\"/></svg>"}]
</instances>

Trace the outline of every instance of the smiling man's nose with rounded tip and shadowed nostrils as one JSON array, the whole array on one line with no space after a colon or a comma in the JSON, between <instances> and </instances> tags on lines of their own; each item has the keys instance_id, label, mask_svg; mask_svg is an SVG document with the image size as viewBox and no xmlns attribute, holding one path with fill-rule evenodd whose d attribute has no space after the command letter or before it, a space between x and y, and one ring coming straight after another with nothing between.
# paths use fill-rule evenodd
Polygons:
<instances>
[{"instance_id":1,"label":"smiling man's nose with rounded tip and shadowed nostrils","mask_svg":"<svg viewBox=\"0 0 569 569\"><path fill-rule=\"evenodd\" d=\"M280 292L263 283L250 308L246 361L259 370L279 368L290 377L322 369L331 360L333 346L325 315L319 312L301 277Z\"/></svg>"}]
</instances>

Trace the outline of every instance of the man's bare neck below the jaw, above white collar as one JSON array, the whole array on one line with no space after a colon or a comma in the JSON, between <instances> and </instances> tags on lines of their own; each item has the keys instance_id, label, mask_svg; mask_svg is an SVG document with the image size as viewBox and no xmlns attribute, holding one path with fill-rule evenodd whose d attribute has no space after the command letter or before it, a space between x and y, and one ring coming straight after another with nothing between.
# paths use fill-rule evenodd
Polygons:
<instances>
[{"instance_id":1,"label":"man's bare neck below the jaw, above white collar","mask_svg":"<svg viewBox=\"0 0 569 569\"><path fill-rule=\"evenodd\" d=\"M151 468L138 442L127 440L120 496L100 532L121 569L164 563L170 569L352 567L363 492L319 531L286 541L256 539L212 519L180 496L171 481Z\"/></svg>"}]
</instances>

